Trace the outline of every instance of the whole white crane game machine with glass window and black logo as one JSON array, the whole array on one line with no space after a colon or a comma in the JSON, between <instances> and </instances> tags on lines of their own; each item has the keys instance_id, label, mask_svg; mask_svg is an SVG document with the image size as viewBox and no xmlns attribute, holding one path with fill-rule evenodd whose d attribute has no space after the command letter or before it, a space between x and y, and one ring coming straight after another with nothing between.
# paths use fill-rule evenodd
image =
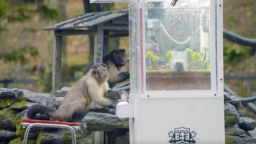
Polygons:
<instances>
[{"instance_id":1,"label":"whole white crane game machine with glass window and black logo","mask_svg":"<svg viewBox=\"0 0 256 144\"><path fill-rule=\"evenodd\" d=\"M130 144L224 144L223 0L92 1L129 2Z\"/></svg>"}]
</instances>

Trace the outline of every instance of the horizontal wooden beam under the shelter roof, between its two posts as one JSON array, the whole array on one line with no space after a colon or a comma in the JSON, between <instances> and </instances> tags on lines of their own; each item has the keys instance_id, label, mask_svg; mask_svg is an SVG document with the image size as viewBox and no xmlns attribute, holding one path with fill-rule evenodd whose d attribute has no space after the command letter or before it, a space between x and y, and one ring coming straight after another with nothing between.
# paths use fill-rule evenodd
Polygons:
<instances>
[{"instance_id":1,"label":"horizontal wooden beam under the shelter roof, between its two posts","mask_svg":"<svg viewBox=\"0 0 256 144\"><path fill-rule=\"evenodd\" d=\"M82 30L82 29L65 29L57 30L57 36L69 36L69 35L90 35L96 33L96 30Z\"/></svg>"}]
</instances>

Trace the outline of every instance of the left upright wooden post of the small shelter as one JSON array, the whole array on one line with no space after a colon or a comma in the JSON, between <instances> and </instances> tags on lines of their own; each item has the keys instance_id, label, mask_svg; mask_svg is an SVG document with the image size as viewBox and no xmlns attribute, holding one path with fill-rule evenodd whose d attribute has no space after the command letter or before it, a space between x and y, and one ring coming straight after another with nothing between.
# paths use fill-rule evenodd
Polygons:
<instances>
[{"instance_id":1,"label":"left upright wooden post of the small shelter","mask_svg":"<svg viewBox=\"0 0 256 144\"><path fill-rule=\"evenodd\" d=\"M60 90L61 77L61 57L62 57L62 36L57 36L54 31L53 61L52 61L52 92L54 96L56 90Z\"/></svg>"}]
</instances>

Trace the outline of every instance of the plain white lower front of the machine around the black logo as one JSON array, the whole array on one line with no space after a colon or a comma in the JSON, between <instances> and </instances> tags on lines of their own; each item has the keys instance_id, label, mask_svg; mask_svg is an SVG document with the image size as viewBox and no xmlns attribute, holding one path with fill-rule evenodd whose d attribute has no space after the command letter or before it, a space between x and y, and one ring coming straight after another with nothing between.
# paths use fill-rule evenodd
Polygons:
<instances>
[{"instance_id":1,"label":"plain white lower front of the machine around the black logo","mask_svg":"<svg viewBox=\"0 0 256 144\"><path fill-rule=\"evenodd\" d=\"M169 132L189 128L196 144L224 144L223 97L141 99L141 141L135 144L169 144Z\"/></svg>"}]
</instances>

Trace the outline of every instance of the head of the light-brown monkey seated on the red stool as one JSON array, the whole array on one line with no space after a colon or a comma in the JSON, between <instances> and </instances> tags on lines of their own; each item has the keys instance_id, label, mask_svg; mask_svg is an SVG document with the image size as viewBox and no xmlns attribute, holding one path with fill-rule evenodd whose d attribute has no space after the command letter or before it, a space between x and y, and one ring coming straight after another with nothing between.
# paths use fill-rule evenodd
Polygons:
<instances>
[{"instance_id":1,"label":"head of the light-brown monkey seated on the red stool","mask_svg":"<svg viewBox=\"0 0 256 144\"><path fill-rule=\"evenodd\" d=\"M102 64L96 69L93 69L92 76L99 82L108 81L109 73L108 73L107 66L105 64Z\"/></svg>"}]
</instances>

